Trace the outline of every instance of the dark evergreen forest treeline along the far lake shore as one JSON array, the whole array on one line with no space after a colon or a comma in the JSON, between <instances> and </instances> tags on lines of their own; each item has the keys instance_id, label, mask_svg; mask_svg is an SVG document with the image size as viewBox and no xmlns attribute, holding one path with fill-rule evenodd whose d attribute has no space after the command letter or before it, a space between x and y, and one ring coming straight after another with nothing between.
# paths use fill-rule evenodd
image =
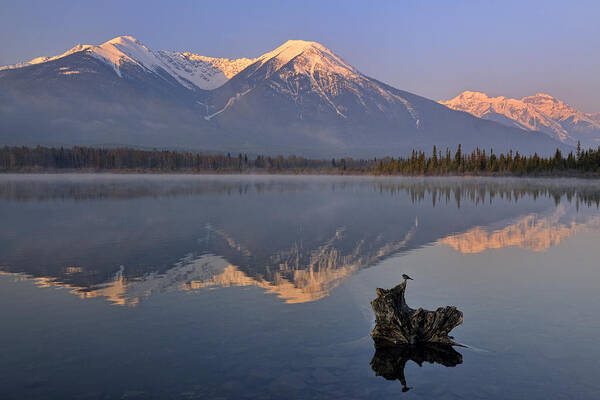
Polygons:
<instances>
[{"instance_id":1,"label":"dark evergreen forest treeline along the far lake shore","mask_svg":"<svg viewBox=\"0 0 600 400\"><path fill-rule=\"evenodd\" d=\"M372 159L309 159L298 156L248 157L246 154L202 154L169 150L93 147L0 148L0 171L46 170L156 171L196 173L330 173L408 176L449 175L600 175L600 146L567 155L556 150L552 157L496 154L476 149L444 152L435 146L431 153L413 151L410 157Z\"/></svg>"}]
</instances>

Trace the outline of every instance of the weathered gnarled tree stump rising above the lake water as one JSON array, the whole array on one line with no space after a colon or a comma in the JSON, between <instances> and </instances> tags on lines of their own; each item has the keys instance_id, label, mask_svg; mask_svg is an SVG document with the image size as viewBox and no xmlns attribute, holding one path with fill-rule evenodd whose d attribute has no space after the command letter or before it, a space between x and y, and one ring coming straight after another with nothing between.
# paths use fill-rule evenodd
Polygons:
<instances>
[{"instance_id":1,"label":"weathered gnarled tree stump rising above the lake water","mask_svg":"<svg viewBox=\"0 0 600 400\"><path fill-rule=\"evenodd\" d=\"M371 302L375 312L375 328L371 332L375 348L419 343L459 345L448 333L462 323L461 311L453 306L435 311L413 310L406 304L405 292L406 280L389 290L377 289L377 298Z\"/></svg>"}]
</instances>

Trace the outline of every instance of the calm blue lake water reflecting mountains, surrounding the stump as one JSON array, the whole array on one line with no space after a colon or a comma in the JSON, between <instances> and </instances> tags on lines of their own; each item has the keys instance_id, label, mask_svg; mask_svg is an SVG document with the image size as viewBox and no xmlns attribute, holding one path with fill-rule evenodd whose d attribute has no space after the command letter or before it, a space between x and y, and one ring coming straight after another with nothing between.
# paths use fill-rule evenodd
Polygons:
<instances>
[{"instance_id":1,"label":"calm blue lake water reflecting mountains, surrounding the stump","mask_svg":"<svg viewBox=\"0 0 600 400\"><path fill-rule=\"evenodd\" d=\"M599 201L573 179L0 175L0 398L598 399ZM375 353L370 302L403 273L413 308L464 313L460 354Z\"/></svg>"}]
</instances>

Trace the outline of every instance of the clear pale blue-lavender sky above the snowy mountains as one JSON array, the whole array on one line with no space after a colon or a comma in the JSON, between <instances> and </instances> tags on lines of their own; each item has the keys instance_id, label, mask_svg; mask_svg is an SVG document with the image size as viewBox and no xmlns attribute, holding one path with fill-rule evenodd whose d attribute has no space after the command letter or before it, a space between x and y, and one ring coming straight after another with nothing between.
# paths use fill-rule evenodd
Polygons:
<instances>
[{"instance_id":1,"label":"clear pale blue-lavender sky above the snowy mountains","mask_svg":"<svg viewBox=\"0 0 600 400\"><path fill-rule=\"evenodd\" d=\"M0 65L132 35L155 50L255 57L314 40L435 100L550 93L600 111L600 1L7 1Z\"/></svg>"}]
</instances>

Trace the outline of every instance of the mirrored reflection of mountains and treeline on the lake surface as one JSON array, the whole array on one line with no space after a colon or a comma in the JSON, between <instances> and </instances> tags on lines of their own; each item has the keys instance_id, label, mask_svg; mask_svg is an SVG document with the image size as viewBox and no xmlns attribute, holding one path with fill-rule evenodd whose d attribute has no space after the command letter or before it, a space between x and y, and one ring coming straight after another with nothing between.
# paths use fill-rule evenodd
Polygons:
<instances>
[{"instance_id":1,"label":"mirrored reflection of mountains and treeline on the lake surface","mask_svg":"<svg viewBox=\"0 0 600 400\"><path fill-rule=\"evenodd\" d=\"M134 306L154 293L254 286L322 299L424 245L543 251L600 230L594 184L502 179L0 178L0 270ZM448 211L452 212L448 212Z\"/></svg>"}]
</instances>

